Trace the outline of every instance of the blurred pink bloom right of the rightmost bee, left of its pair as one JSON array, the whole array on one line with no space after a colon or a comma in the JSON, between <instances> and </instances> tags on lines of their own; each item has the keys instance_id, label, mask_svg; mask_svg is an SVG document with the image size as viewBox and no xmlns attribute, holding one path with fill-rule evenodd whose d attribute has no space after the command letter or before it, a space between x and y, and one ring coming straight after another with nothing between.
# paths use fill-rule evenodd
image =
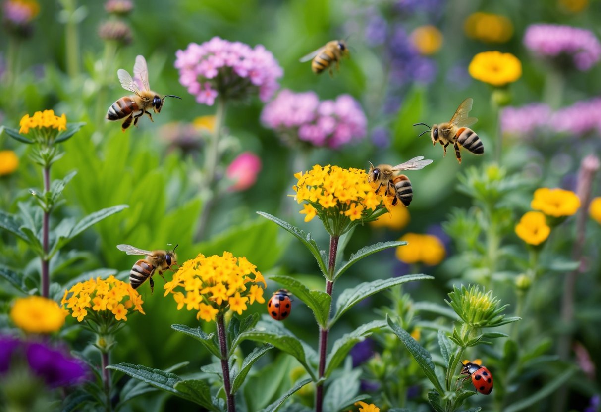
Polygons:
<instances>
[{"instance_id":1,"label":"blurred pink bloom right of the rightmost bee, left of its pair","mask_svg":"<svg viewBox=\"0 0 601 412\"><path fill-rule=\"evenodd\" d=\"M501 130L510 135L529 136L547 127L550 119L551 108L543 103L508 107L501 112Z\"/></svg>"}]
</instances>

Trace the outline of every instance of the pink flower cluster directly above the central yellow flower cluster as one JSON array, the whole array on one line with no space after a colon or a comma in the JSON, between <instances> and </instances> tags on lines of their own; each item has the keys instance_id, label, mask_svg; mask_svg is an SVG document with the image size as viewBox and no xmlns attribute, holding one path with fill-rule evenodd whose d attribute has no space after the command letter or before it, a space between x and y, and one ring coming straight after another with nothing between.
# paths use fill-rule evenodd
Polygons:
<instances>
[{"instance_id":1,"label":"pink flower cluster directly above the central yellow flower cluster","mask_svg":"<svg viewBox=\"0 0 601 412\"><path fill-rule=\"evenodd\" d=\"M265 106L261 120L287 142L300 140L330 148L364 138L367 128L361 106L350 95L320 101L312 91L294 93L289 89Z\"/></svg>"}]
</instances>

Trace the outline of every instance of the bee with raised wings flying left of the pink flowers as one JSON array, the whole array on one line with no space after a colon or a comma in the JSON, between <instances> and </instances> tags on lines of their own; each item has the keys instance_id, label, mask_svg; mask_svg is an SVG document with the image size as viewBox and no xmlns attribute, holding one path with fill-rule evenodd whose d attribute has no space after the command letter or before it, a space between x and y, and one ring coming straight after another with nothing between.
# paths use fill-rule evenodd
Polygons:
<instances>
[{"instance_id":1,"label":"bee with raised wings flying left of the pink flowers","mask_svg":"<svg viewBox=\"0 0 601 412\"><path fill-rule=\"evenodd\" d=\"M132 120L133 126L138 126L138 119L144 114L147 114L150 120L154 122L148 109L152 108L154 109L154 113L160 113L165 97L181 99L181 97L172 94L159 97L156 92L150 90L150 86L148 85L148 66L146 65L144 56L136 56L136 63L133 65L133 79L127 73L127 70L123 70L123 68L117 70L117 77L119 77L121 86L134 94L121 97L115 101L108 112L106 112L106 118L111 121L125 118L123 125L121 125L123 132L132 124ZM135 114L138 111L139 114Z\"/></svg>"}]
</instances>

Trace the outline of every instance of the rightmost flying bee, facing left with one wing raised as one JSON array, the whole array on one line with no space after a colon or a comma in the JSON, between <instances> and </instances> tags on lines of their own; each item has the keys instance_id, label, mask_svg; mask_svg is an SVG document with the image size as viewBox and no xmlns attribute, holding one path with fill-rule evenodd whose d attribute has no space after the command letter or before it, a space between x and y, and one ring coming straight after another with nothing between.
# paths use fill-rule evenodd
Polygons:
<instances>
[{"instance_id":1,"label":"rightmost flying bee, facing left with one wing raised","mask_svg":"<svg viewBox=\"0 0 601 412\"><path fill-rule=\"evenodd\" d=\"M452 143L455 148L455 156L457 156L457 160L461 163L461 153L459 148L462 146L474 154L484 154L484 145L482 144L482 141L478 138L478 135L474 130L469 129L468 127L478 121L475 117L468 117L473 103L474 99L471 97L463 100L448 123L433 124L432 127L428 126L426 123L415 123L413 126L423 124L428 127L429 130L421 133L421 135L430 132L432 144L436 145L436 142L439 141L441 145L444 146L444 156L447 156L447 146Z\"/></svg>"}]
</instances>

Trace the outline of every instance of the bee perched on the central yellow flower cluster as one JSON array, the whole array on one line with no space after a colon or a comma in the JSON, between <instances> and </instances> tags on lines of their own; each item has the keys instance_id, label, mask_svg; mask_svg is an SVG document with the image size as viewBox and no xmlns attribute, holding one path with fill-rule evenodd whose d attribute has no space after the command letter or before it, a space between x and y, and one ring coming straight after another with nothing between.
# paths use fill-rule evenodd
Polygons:
<instances>
[{"instance_id":1,"label":"bee perched on the central yellow flower cluster","mask_svg":"<svg viewBox=\"0 0 601 412\"><path fill-rule=\"evenodd\" d=\"M432 163L432 160L423 160L424 156L413 157L407 162L401 163L400 165L379 165L374 168L374 165L370 162L370 170L368 173L367 181L379 183L376 193L380 192L382 186L386 185L385 196L389 193L394 193L395 197L392 201L392 205L397 204L397 199L403 202L405 206L409 206L413 200L413 188L409 178L405 175L397 175L397 172L402 170L419 170L425 168L427 165Z\"/></svg>"}]
</instances>

